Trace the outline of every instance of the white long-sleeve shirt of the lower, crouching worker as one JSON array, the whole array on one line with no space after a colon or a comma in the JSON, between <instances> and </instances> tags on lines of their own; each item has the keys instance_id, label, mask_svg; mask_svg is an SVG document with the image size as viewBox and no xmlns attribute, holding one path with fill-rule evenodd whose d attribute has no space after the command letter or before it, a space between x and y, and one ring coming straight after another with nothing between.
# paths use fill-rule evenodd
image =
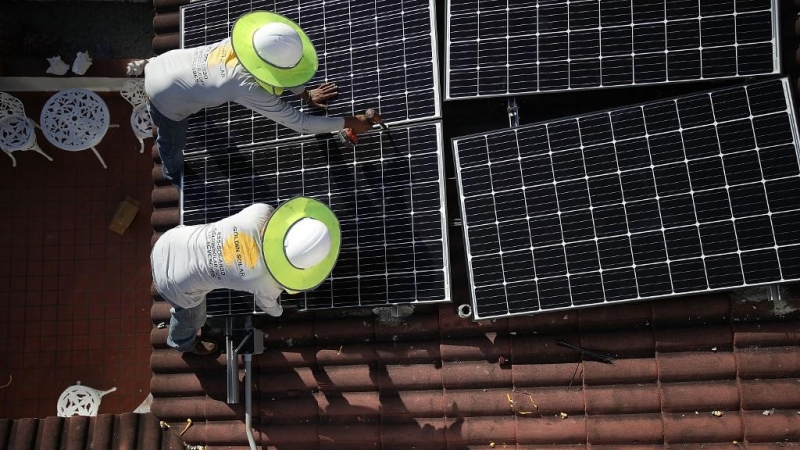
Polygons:
<instances>
[{"instance_id":1,"label":"white long-sleeve shirt of the lower, crouching worker","mask_svg":"<svg viewBox=\"0 0 800 450\"><path fill-rule=\"evenodd\" d=\"M159 294L173 306L191 308L214 289L227 288L254 294L263 310L274 307L283 288L269 274L261 250L273 211L256 203L218 222L164 233L150 254Z\"/></svg>"}]
</instances>

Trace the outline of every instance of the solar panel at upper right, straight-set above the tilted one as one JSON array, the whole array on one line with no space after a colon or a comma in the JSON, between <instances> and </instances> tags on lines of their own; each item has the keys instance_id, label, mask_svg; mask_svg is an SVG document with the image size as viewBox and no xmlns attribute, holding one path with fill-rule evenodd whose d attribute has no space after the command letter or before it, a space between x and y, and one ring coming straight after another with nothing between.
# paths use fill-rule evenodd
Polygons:
<instances>
[{"instance_id":1,"label":"solar panel at upper right, straight-set above the tilted one","mask_svg":"<svg viewBox=\"0 0 800 450\"><path fill-rule=\"evenodd\" d=\"M446 99L774 74L777 0L448 0Z\"/></svg>"}]
</instances>

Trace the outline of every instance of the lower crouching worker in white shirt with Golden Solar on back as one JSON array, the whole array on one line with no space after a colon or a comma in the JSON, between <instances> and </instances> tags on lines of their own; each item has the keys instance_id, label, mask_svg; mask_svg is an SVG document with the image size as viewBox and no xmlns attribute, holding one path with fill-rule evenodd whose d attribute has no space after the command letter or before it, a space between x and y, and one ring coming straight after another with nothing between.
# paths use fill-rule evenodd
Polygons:
<instances>
[{"instance_id":1,"label":"lower crouching worker in white shirt with Golden Solar on back","mask_svg":"<svg viewBox=\"0 0 800 450\"><path fill-rule=\"evenodd\" d=\"M336 264L340 243L334 213L307 197L277 209L256 203L218 222L167 231L150 254L153 284L172 305L167 344L198 355L217 350L214 341L197 338L206 322L206 294L214 289L250 292L254 309L280 316L278 296L319 286Z\"/></svg>"}]
</instances>

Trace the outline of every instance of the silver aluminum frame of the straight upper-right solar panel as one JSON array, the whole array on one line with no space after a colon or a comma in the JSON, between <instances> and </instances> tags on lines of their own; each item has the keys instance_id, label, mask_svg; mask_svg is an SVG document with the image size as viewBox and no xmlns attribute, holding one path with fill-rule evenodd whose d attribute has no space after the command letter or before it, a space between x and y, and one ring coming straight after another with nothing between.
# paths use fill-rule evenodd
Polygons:
<instances>
[{"instance_id":1,"label":"silver aluminum frame of the straight upper-right solar panel","mask_svg":"<svg viewBox=\"0 0 800 450\"><path fill-rule=\"evenodd\" d=\"M508 81L506 81L506 93L501 94L474 94L474 95L465 95L465 96L452 96L451 95L451 82L450 82L450 56L451 56L451 41L450 41L450 7L451 3L454 0L445 0L446 1L446 17L445 17L445 58L444 58L444 101L459 101L459 100L474 100L479 98L497 98L497 97L518 97L523 95L537 95L537 94L547 94L547 93L558 93L558 92L570 92L570 91L583 91L583 90L597 90L597 89L618 89L618 88L626 88L632 86L655 86L660 84L667 84L667 83L693 83L698 81L704 80L720 80L720 79L730 79L730 78L742 78L742 77L751 77L751 76L769 76L769 75L776 75L781 73L781 39L780 39L780 14L779 14L779 2L778 0L770 0L772 7L771 7L771 20L772 20L772 44L773 44L773 54L772 54L772 62L773 68L771 73L763 73L757 75L737 75L734 77L709 77L709 78L694 78L694 79L684 79L684 80L675 80L675 81L659 81L659 82L645 82L645 83L632 83L632 84L614 84L614 85L607 85L607 86L589 86L589 87L577 87L572 88L569 87L567 89L552 89L552 90L527 90L521 92L508 92ZM538 5L538 0L532 0ZM665 2L668 0L665 0ZM569 1L567 1L569 3ZM666 21L665 21L666 22ZM602 56L601 56L602 58ZM506 67L511 67L508 64ZM506 76L506 80L508 80L508 76ZM538 85L538 80L537 80ZM477 88L477 86L476 86Z\"/></svg>"}]
</instances>

